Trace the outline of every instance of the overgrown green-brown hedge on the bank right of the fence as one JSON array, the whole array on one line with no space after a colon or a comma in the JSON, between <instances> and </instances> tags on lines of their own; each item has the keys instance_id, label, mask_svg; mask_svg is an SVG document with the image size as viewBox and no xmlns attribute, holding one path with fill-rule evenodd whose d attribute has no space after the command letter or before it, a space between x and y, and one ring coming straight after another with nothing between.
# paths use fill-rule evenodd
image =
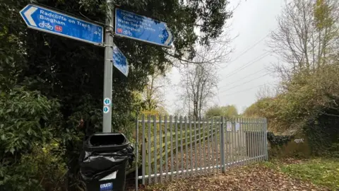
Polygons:
<instances>
[{"instance_id":1,"label":"overgrown green-brown hedge on the bank right of the fence","mask_svg":"<svg viewBox=\"0 0 339 191\"><path fill-rule=\"evenodd\" d=\"M286 91L258 100L245 115L268 118L273 132L302 131L314 155L332 155L339 137L339 64L323 66L312 74L302 72L283 82Z\"/></svg>"}]
</instances>

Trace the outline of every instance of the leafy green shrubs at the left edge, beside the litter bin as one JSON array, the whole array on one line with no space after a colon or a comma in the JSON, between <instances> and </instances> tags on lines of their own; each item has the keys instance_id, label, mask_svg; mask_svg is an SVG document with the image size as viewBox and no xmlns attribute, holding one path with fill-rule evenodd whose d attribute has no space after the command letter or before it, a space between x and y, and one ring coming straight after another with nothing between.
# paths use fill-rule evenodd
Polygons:
<instances>
[{"instance_id":1,"label":"leafy green shrubs at the left edge, beside the litter bin","mask_svg":"<svg viewBox=\"0 0 339 191\"><path fill-rule=\"evenodd\" d=\"M59 145L50 144L59 132L59 107L38 91L0 93L0 190L59 187L65 163Z\"/></svg>"}]
</instances>

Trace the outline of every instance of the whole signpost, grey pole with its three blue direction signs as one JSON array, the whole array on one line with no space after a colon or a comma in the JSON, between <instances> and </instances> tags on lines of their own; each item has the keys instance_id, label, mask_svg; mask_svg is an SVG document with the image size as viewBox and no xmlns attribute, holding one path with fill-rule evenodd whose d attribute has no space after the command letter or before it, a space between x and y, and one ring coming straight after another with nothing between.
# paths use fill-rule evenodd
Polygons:
<instances>
[{"instance_id":1,"label":"whole signpost, grey pole with its three blue direction signs","mask_svg":"<svg viewBox=\"0 0 339 191\"><path fill-rule=\"evenodd\" d=\"M112 0L106 0L110 4ZM115 8L115 26L111 7L107 7L105 33L102 25L73 17L61 11L28 4L20 11L28 28L69 37L105 47L104 102L102 132L111 132L113 66L128 76L129 62L113 43L113 35L171 47L173 35L167 24L153 18ZM104 42L105 35L105 44Z\"/></svg>"}]
</instances>

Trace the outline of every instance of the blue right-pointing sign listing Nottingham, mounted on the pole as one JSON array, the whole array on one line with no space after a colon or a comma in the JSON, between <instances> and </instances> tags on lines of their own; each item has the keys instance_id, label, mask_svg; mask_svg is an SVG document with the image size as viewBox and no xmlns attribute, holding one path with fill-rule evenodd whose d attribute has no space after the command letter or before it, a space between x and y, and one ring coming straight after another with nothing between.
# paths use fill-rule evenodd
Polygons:
<instances>
[{"instance_id":1,"label":"blue right-pointing sign listing Nottingham, mounted on the pole","mask_svg":"<svg viewBox=\"0 0 339 191\"><path fill-rule=\"evenodd\" d=\"M155 45L170 47L173 36L167 24L136 13L115 9L115 34Z\"/></svg>"}]
</instances>

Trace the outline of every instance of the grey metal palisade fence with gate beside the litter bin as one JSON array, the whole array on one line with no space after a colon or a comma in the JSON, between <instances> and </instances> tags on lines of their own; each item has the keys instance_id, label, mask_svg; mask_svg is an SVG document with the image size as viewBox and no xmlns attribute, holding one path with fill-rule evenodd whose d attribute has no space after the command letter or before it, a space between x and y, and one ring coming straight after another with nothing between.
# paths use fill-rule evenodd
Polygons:
<instances>
[{"instance_id":1,"label":"grey metal palisade fence with gate beside the litter bin","mask_svg":"<svg viewBox=\"0 0 339 191\"><path fill-rule=\"evenodd\" d=\"M138 181L164 183L267 160L266 131L265 118L142 115L136 122L136 190Z\"/></svg>"}]
</instances>

